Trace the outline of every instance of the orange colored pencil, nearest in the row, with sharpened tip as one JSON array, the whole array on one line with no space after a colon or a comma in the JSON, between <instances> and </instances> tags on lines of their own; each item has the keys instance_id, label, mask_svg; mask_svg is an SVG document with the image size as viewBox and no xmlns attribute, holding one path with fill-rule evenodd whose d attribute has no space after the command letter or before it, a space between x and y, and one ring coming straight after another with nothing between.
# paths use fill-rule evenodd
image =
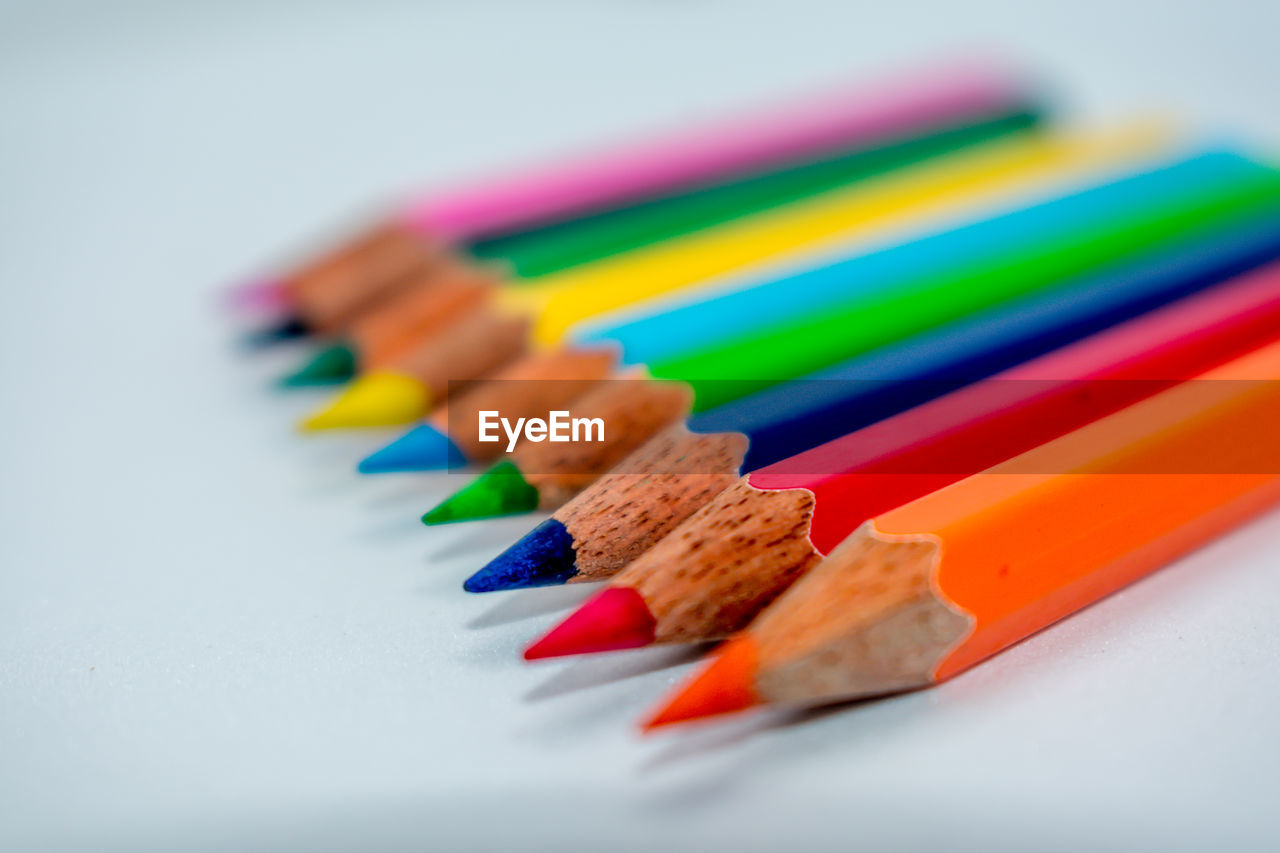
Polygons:
<instances>
[{"instance_id":1,"label":"orange colored pencil, nearest in the row, with sharpened tip","mask_svg":"<svg viewBox=\"0 0 1280 853\"><path fill-rule=\"evenodd\" d=\"M1272 343L863 524L648 727L928 686L1280 501Z\"/></svg>"}]
</instances>

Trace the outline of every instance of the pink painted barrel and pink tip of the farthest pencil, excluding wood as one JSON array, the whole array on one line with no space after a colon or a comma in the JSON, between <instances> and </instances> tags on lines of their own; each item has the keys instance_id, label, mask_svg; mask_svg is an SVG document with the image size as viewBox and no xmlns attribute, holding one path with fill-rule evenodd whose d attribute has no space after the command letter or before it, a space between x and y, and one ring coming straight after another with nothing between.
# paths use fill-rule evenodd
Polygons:
<instances>
[{"instance_id":1,"label":"pink painted barrel and pink tip of the farthest pencil, excluding wood","mask_svg":"<svg viewBox=\"0 0 1280 853\"><path fill-rule=\"evenodd\" d=\"M1025 97L1024 81L975 61L951 61L787 101L596 155L571 156L504 177L428 193L390 219L431 243L466 243L675 195L737 175L817 160L855 146L909 136ZM247 310L285 309L289 279L239 288Z\"/></svg>"}]
</instances>

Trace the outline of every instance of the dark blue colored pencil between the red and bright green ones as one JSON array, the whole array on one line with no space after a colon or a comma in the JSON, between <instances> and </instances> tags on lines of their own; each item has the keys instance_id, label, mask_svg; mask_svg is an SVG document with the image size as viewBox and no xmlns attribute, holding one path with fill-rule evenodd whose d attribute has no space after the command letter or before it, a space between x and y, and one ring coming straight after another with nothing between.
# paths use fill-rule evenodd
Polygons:
<instances>
[{"instance_id":1,"label":"dark blue colored pencil between the red and bright green ones","mask_svg":"<svg viewBox=\"0 0 1280 853\"><path fill-rule=\"evenodd\" d=\"M710 502L717 494L710 482L727 488L742 470L772 465L1277 256L1280 211L1256 225L1233 224L1190 238L695 415L687 429L655 437L463 587L495 592L604 580ZM1236 310L1226 297L1194 310L1215 316L1224 309ZM1180 316L1194 323L1194 310ZM1242 324L1270 316L1254 305L1238 313L1234 319ZM1235 330L1222 323L1224 334ZM1105 341L1085 347L1107 346ZM1206 356L1212 353L1206 350ZM704 455L703 448L731 444L742 452Z\"/></svg>"}]
</instances>

